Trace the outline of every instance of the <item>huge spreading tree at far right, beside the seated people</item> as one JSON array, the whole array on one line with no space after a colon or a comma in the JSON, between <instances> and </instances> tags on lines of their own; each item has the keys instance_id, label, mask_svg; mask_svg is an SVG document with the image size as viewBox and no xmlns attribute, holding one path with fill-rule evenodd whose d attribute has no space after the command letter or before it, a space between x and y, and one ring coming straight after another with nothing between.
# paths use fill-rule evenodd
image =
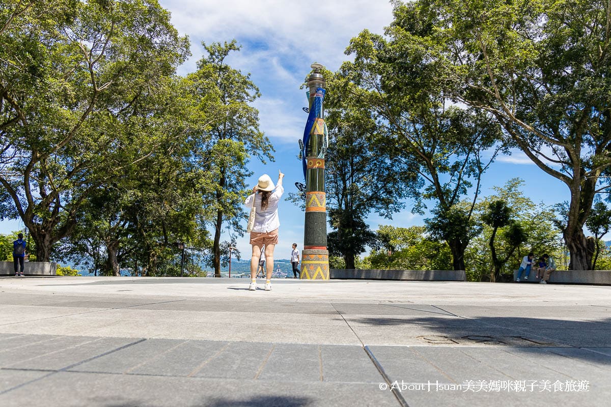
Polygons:
<instances>
[{"instance_id":1,"label":"huge spreading tree at far right, beside the seated people","mask_svg":"<svg viewBox=\"0 0 611 407\"><path fill-rule=\"evenodd\" d=\"M572 270L589 270L584 223L611 142L611 3L422 0L395 3L393 30L460 103L494 115L513 145L571 198L562 232Z\"/></svg>"}]
</instances>

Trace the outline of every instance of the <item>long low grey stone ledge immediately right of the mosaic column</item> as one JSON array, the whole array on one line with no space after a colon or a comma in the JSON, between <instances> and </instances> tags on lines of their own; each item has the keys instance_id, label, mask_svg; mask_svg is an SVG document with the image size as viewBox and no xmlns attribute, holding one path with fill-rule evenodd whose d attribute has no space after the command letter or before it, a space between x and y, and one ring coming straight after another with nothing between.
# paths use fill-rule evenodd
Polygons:
<instances>
[{"instance_id":1,"label":"long low grey stone ledge immediately right of the mosaic column","mask_svg":"<svg viewBox=\"0 0 611 407\"><path fill-rule=\"evenodd\" d=\"M466 281L464 270L345 270L331 268L331 279Z\"/></svg>"}]
</instances>

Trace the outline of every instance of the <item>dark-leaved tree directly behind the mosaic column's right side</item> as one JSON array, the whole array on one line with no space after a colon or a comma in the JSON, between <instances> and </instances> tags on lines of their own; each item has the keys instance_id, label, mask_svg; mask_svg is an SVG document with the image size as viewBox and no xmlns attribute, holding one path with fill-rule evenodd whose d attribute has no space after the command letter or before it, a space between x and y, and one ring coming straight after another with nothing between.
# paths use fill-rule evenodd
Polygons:
<instances>
[{"instance_id":1,"label":"dark-leaved tree directly behind the mosaic column's right side","mask_svg":"<svg viewBox=\"0 0 611 407\"><path fill-rule=\"evenodd\" d=\"M329 225L329 253L342 256L353 269L356 256L375 242L365 218L371 212L390 218L404 207L406 185L417 182L413 171L390 157L375 112L354 98L354 85L338 74L327 79L326 124L329 147L325 184Z\"/></svg>"}]
</instances>

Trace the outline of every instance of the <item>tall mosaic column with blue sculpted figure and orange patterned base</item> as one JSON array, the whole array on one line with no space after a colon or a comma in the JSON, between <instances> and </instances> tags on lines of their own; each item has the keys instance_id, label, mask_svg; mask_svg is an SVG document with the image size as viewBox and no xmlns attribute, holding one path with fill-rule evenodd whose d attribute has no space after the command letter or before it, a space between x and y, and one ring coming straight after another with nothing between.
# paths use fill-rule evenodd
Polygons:
<instances>
[{"instance_id":1,"label":"tall mosaic column with blue sculpted figure and orange patterned base","mask_svg":"<svg viewBox=\"0 0 611 407\"><path fill-rule=\"evenodd\" d=\"M308 78L309 115L301 146L305 177L304 250L301 252L302 279L329 279L327 251L327 212L324 192L324 154L328 145L327 126L323 118L323 65L313 63Z\"/></svg>"}]
</instances>

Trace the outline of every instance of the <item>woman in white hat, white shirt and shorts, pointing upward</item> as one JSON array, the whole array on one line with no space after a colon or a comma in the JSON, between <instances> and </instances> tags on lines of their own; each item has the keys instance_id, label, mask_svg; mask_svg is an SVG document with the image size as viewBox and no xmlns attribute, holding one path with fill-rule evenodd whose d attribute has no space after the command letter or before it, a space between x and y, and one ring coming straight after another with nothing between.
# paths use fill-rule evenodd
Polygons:
<instances>
[{"instance_id":1,"label":"woman in white hat, white shirt and shorts, pointing upward","mask_svg":"<svg viewBox=\"0 0 611 407\"><path fill-rule=\"evenodd\" d=\"M244 205L255 207L255 223L251 231L251 285L249 290L257 289L257 267L261 250L265 246L265 268L266 280L265 290L271 290L271 274L274 271L274 248L278 244L278 228L280 220L278 217L278 203L284 187L282 187L284 174L278 171L278 182L274 187L274 182L269 175L264 174L258 179L257 185L252 189L252 194L246 198Z\"/></svg>"}]
</instances>

